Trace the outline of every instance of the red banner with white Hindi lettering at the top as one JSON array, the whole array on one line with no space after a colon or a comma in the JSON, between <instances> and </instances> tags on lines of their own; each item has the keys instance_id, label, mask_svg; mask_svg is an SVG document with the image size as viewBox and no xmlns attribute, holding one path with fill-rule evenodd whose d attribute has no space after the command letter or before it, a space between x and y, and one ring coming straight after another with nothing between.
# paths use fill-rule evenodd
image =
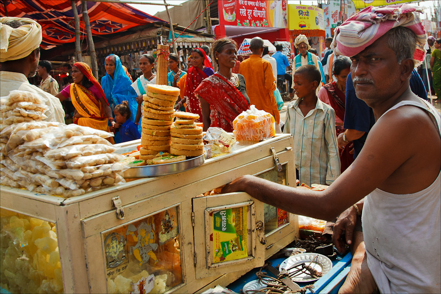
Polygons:
<instances>
[{"instance_id":1,"label":"red banner with white Hindi lettering at the top","mask_svg":"<svg viewBox=\"0 0 441 294\"><path fill-rule=\"evenodd\" d=\"M287 0L219 0L218 8L220 25L287 25Z\"/></svg>"}]
</instances>

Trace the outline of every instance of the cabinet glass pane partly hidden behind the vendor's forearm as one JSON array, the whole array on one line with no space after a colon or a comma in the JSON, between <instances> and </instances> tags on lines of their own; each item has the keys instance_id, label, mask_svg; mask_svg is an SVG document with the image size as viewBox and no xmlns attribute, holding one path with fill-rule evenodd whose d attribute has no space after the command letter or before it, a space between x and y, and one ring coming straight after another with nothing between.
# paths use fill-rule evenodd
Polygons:
<instances>
[{"instance_id":1,"label":"cabinet glass pane partly hidden behind the vendor's forearm","mask_svg":"<svg viewBox=\"0 0 441 294\"><path fill-rule=\"evenodd\" d=\"M276 169L272 169L257 176L274 183L286 185L286 165L282 166L282 170L280 172L277 172ZM282 209L278 209L269 204L264 204L264 220L265 234L268 234L285 223L288 223L288 214Z\"/></svg>"}]
</instances>

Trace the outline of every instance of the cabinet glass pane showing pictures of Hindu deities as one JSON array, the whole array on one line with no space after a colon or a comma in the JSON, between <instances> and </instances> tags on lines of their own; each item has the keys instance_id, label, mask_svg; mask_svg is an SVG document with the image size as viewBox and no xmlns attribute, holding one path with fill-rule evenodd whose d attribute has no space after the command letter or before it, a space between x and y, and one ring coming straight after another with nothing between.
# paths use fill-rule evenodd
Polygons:
<instances>
[{"instance_id":1,"label":"cabinet glass pane showing pictures of Hindu deities","mask_svg":"<svg viewBox=\"0 0 441 294\"><path fill-rule=\"evenodd\" d=\"M164 293L182 283L178 210L102 233L108 293Z\"/></svg>"}]
</instances>

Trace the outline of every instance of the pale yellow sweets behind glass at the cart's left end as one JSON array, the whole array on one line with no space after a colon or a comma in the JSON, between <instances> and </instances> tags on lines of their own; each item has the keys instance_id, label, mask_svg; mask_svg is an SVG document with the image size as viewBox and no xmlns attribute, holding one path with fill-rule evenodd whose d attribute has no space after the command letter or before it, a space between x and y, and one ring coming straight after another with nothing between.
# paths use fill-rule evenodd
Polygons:
<instances>
[{"instance_id":1,"label":"pale yellow sweets behind glass at the cart's left end","mask_svg":"<svg viewBox=\"0 0 441 294\"><path fill-rule=\"evenodd\" d=\"M0 209L0 287L10 293L63 293L54 223Z\"/></svg>"}]
</instances>

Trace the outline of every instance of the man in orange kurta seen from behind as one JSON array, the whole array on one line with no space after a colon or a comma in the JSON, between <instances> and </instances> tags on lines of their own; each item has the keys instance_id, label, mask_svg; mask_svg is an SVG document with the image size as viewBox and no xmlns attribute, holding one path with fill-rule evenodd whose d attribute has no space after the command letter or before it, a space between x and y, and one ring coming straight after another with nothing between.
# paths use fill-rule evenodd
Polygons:
<instances>
[{"instance_id":1,"label":"man in orange kurta seen from behind","mask_svg":"<svg viewBox=\"0 0 441 294\"><path fill-rule=\"evenodd\" d=\"M245 77L246 94L248 94L250 104L272 114L276 123L279 124L280 114L273 93L277 85L270 62L262 59L263 45L261 38L251 39L249 49L253 54L242 61L239 73Z\"/></svg>"}]
</instances>

